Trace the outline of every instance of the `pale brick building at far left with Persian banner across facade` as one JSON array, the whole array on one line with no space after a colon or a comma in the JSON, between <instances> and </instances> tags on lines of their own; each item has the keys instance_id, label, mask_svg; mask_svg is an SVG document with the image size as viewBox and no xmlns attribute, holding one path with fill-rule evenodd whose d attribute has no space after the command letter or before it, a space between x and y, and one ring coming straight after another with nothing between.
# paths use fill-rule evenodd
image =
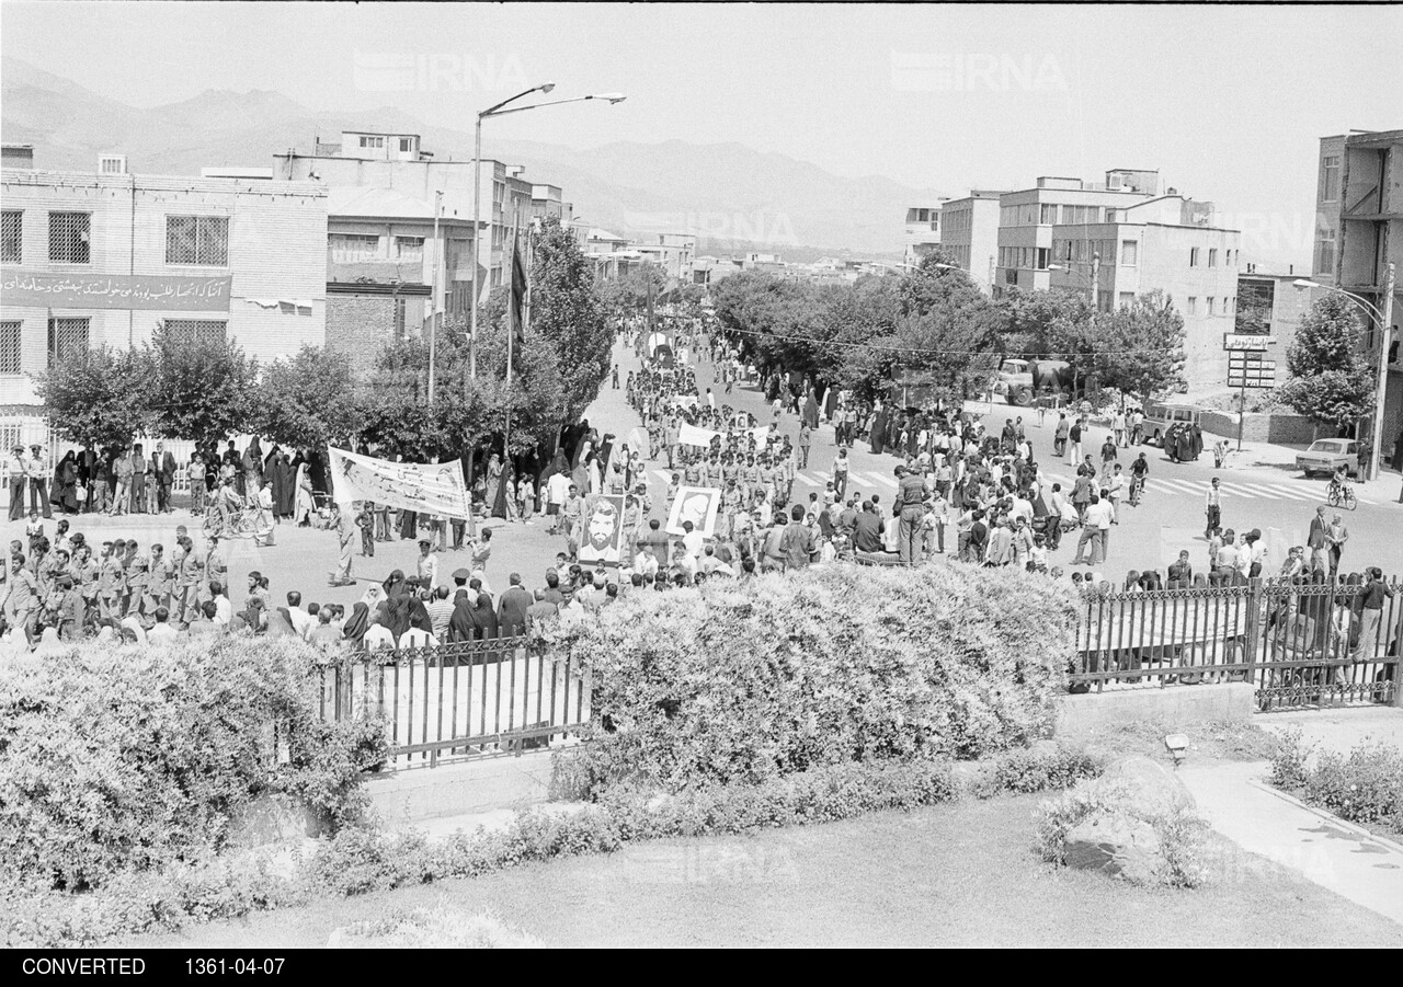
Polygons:
<instances>
[{"instance_id":1,"label":"pale brick building at far left with Persian banner across facade","mask_svg":"<svg viewBox=\"0 0 1403 987\"><path fill-rule=\"evenodd\" d=\"M28 374L157 325L260 362L325 342L327 189L316 182L0 171L0 405Z\"/></svg>"}]
</instances>

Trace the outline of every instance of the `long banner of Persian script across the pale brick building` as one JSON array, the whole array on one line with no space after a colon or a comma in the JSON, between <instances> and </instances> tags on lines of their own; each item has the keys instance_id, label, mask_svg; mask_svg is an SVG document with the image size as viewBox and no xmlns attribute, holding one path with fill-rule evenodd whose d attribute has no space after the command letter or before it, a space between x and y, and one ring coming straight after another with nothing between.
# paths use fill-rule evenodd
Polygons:
<instances>
[{"instance_id":1,"label":"long banner of Persian script across the pale brick building","mask_svg":"<svg viewBox=\"0 0 1403 987\"><path fill-rule=\"evenodd\" d=\"M233 278L166 275L36 275L6 271L0 303L36 308L229 311Z\"/></svg>"}]
</instances>

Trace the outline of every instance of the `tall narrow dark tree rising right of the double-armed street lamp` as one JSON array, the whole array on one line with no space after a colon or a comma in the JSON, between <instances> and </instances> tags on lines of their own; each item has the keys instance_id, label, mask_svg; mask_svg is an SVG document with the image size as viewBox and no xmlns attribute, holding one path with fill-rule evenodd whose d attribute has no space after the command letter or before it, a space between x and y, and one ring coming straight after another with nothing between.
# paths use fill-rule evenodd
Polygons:
<instances>
[{"instance_id":1,"label":"tall narrow dark tree rising right of the double-armed street lamp","mask_svg":"<svg viewBox=\"0 0 1403 987\"><path fill-rule=\"evenodd\" d=\"M554 348L564 418L572 421L599 395L615 332L599 304L593 268L558 220L542 223L533 248L530 332Z\"/></svg>"}]
</instances>

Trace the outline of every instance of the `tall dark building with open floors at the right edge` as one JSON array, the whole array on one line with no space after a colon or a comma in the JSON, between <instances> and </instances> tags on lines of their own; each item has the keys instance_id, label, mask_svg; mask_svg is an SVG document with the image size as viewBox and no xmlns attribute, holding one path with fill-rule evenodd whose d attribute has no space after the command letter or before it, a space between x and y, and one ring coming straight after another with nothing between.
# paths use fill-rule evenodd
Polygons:
<instances>
[{"instance_id":1,"label":"tall dark building with open floors at the right edge","mask_svg":"<svg viewBox=\"0 0 1403 987\"><path fill-rule=\"evenodd\" d=\"M1312 280L1362 299L1369 334L1365 345L1374 366L1388 360L1383 411L1383 451L1403 432L1403 362L1399 321L1403 285L1395 276L1389 325L1383 286L1389 265L1403 268L1403 130L1355 132L1320 139L1316 186L1316 243ZM1322 292L1316 290L1319 296ZM1382 353L1381 353L1382 348Z\"/></svg>"}]
</instances>

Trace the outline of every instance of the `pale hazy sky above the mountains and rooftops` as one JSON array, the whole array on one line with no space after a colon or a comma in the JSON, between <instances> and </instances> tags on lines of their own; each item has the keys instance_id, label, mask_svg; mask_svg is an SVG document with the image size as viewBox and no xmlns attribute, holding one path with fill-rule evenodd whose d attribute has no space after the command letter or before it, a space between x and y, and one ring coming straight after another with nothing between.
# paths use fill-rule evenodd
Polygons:
<instances>
[{"instance_id":1,"label":"pale hazy sky above the mountains and rooftops","mask_svg":"<svg viewBox=\"0 0 1403 987\"><path fill-rule=\"evenodd\" d=\"M4 55L139 107L268 88L467 128L473 111L554 80L556 97L629 100L492 133L739 142L950 195L1157 167L1249 224L1295 227L1301 259L1317 137L1403 128L1400 7L6 0L0 31Z\"/></svg>"}]
</instances>

